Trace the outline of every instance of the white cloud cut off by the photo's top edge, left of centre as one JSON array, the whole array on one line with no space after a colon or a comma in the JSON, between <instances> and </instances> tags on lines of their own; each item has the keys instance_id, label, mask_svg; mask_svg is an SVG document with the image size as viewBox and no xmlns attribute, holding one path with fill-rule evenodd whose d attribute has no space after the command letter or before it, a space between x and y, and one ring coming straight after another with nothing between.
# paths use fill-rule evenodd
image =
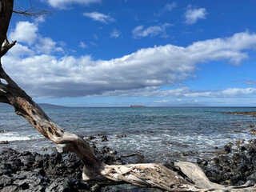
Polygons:
<instances>
[{"instance_id":1,"label":"white cloud cut off by the photo's top edge, left of centre","mask_svg":"<svg viewBox=\"0 0 256 192\"><path fill-rule=\"evenodd\" d=\"M90 3L102 2L101 0L47 0L50 6L58 9L65 9L68 5L77 3L88 6Z\"/></svg>"}]
</instances>

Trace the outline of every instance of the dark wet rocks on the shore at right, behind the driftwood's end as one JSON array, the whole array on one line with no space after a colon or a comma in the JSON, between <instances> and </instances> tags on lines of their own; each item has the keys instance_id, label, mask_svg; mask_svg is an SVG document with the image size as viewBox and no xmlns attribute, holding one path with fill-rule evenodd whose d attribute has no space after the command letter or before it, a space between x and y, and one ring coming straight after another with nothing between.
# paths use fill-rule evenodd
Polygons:
<instances>
[{"instance_id":1,"label":"dark wet rocks on the shore at right, behind the driftwood's end","mask_svg":"<svg viewBox=\"0 0 256 192\"><path fill-rule=\"evenodd\" d=\"M214 158L197 160L211 182L228 186L256 184L256 139L227 143Z\"/></svg>"}]
</instances>

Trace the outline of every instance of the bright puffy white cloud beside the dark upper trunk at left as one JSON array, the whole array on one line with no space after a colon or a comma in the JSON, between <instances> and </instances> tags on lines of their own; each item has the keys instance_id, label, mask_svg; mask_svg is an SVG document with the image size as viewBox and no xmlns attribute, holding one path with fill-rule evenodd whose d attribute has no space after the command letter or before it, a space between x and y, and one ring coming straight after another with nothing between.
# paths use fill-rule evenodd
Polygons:
<instances>
[{"instance_id":1,"label":"bright puffy white cloud beside the dark upper trunk at left","mask_svg":"<svg viewBox=\"0 0 256 192\"><path fill-rule=\"evenodd\" d=\"M18 22L14 31L10 32L10 39L25 42L29 45L37 38L38 26L32 22Z\"/></svg>"}]
</instances>

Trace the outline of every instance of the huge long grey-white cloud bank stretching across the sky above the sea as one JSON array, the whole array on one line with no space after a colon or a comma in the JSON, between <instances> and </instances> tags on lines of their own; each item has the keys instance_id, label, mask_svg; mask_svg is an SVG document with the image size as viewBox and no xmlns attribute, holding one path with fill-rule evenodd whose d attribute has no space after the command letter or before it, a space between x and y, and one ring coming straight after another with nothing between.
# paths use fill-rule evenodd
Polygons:
<instances>
[{"instance_id":1,"label":"huge long grey-white cloud bank stretching across the sky above the sea","mask_svg":"<svg viewBox=\"0 0 256 192\"><path fill-rule=\"evenodd\" d=\"M186 80L202 62L224 60L240 65L248 58L244 51L255 46L256 34L244 32L230 38L194 42L186 47L154 46L111 60L94 61L88 55L55 57L35 54L19 58L7 54L2 63L14 80L34 97L125 96L131 93L138 96L150 93L159 97L228 96L254 94L255 89L232 88L213 93L194 92L184 87L166 91L159 88Z\"/></svg>"}]
</instances>

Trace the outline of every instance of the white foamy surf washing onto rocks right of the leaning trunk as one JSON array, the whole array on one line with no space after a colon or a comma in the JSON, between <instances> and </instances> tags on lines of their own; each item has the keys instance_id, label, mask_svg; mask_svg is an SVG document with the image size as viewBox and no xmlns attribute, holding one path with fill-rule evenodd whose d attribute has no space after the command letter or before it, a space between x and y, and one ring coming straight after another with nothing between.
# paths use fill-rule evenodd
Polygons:
<instances>
[{"instance_id":1,"label":"white foamy surf washing onto rocks right of the leaning trunk","mask_svg":"<svg viewBox=\"0 0 256 192\"><path fill-rule=\"evenodd\" d=\"M155 134L129 134L127 138L110 136L107 145L118 151L138 151L152 156L150 158L165 158L165 154L180 153L182 151L206 152L214 151L214 146L223 147L228 142L235 142L238 138L252 138L248 133L228 134L183 134L174 131L168 134L164 131ZM105 143L104 143L105 144ZM186 145L186 147L183 146ZM156 150L158 155L156 155Z\"/></svg>"}]
</instances>

